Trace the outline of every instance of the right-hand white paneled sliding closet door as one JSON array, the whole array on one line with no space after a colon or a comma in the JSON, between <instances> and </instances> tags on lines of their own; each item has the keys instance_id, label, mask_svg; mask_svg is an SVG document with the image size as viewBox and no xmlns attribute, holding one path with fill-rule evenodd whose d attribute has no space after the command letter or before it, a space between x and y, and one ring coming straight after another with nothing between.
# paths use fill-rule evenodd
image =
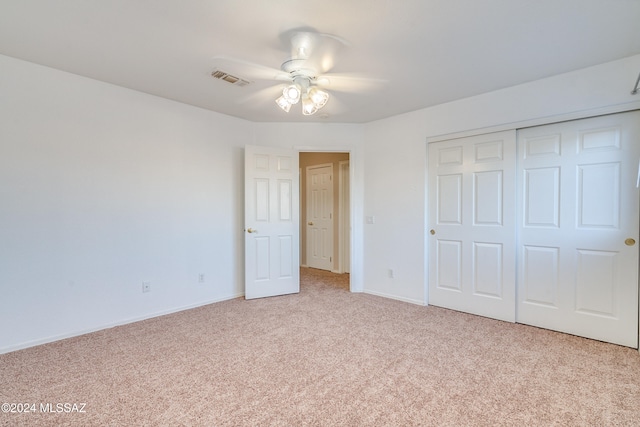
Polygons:
<instances>
[{"instance_id":1,"label":"right-hand white paneled sliding closet door","mask_svg":"<svg viewBox=\"0 0 640 427\"><path fill-rule=\"evenodd\" d=\"M639 158L639 112L518 131L518 322L637 347Z\"/></svg>"}]
</instances>

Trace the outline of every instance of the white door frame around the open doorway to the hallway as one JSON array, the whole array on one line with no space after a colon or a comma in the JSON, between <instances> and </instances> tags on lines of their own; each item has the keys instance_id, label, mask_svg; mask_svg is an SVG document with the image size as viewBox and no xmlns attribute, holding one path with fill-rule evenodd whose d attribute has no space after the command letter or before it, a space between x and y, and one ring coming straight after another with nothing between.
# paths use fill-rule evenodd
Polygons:
<instances>
[{"instance_id":1,"label":"white door frame around the open doorway to the hallway","mask_svg":"<svg viewBox=\"0 0 640 427\"><path fill-rule=\"evenodd\" d=\"M293 149L300 153L348 153L349 154L349 219L351 230L349 234L349 261L350 277L349 290L351 292L364 292L364 159L353 146L294 146ZM360 200L360 203L357 203Z\"/></svg>"}]
</instances>

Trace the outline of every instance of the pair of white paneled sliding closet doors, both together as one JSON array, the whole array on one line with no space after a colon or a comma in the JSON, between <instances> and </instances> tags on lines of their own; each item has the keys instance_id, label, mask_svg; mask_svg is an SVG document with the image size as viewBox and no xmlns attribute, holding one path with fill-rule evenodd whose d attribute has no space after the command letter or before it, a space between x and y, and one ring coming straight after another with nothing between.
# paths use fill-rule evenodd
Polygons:
<instances>
[{"instance_id":1,"label":"pair of white paneled sliding closet doors, both together","mask_svg":"<svg viewBox=\"0 0 640 427\"><path fill-rule=\"evenodd\" d=\"M429 144L429 303L637 348L639 160L638 111Z\"/></svg>"}]
</instances>

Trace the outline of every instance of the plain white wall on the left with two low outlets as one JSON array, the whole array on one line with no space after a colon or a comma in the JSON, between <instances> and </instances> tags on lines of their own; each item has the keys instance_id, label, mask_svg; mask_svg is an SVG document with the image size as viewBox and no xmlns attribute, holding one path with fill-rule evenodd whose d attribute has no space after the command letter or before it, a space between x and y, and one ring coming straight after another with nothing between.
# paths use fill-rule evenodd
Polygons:
<instances>
[{"instance_id":1,"label":"plain white wall on the left with two low outlets","mask_svg":"<svg viewBox=\"0 0 640 427\"><path fill-rule=\"evenodd\" d=\"M251 126L4 56L0 69L0 352L243 294Z\"/></svg>"}]
</instances>

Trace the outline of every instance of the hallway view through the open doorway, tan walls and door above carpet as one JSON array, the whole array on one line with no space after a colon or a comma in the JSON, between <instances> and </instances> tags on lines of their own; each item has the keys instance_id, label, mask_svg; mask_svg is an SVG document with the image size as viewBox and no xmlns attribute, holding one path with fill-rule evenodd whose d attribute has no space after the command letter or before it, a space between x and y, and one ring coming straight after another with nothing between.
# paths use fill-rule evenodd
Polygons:
<instances>
[{"instance_id":1,"label":"hallway view through the open doorway, tan walls and door above carpet","mask_svg":"<svg viewBox=\"0 0 640 427\"><path fill-rule=\"evenodd\" d=\"M349 153L300 152L300 264L350 272Z\"/></svg>"}]
</instances>

